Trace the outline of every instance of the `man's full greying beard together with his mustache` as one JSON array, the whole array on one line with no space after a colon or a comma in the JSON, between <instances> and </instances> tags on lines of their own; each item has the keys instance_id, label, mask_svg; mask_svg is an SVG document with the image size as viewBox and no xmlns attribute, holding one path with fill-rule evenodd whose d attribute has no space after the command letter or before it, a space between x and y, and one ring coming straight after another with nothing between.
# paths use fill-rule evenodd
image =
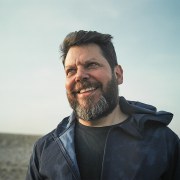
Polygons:
<instances>
[{"instance_id":1,"label":"man's full greying beard together with his mustache","mask_svg":"<svg viewBox=\"0 0 180 180\"><path fill-rule=\"evenodd\" d=\"M93 96L89 96L84 98L80 104L76 98L77 93L67 94L69 104L76 117L87 121L95 121L107 116L118 104L118 83L114 74L112 74L112 79L107 83L105 90L103 90L103 85L100 82L91 83L88 80L78 82L75 89L78 92L79 89L91 87L99 88L102 92L97 103L94 103Z\"/></svg>"}]
</instances>

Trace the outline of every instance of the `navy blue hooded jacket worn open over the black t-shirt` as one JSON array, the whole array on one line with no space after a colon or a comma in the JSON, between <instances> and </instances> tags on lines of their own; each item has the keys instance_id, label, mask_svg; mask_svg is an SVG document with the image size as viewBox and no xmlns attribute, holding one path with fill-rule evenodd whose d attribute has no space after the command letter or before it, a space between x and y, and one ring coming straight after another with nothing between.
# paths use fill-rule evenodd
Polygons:
<instances>
[{"instance_id":1,"label":"navy blue hooded jacket worn open over the black t-shirt","mask_svg":"<svg viewBox=\"0 0 180 180\"><path fill-rule=\"evenodd\" d=\"M130 118L108 134L101 180L180 180L180 141L167 125L173 115L120 97ZM80 180L74 145L74 114L39 139L26 180Z\"/></svg>"}]
</instances>

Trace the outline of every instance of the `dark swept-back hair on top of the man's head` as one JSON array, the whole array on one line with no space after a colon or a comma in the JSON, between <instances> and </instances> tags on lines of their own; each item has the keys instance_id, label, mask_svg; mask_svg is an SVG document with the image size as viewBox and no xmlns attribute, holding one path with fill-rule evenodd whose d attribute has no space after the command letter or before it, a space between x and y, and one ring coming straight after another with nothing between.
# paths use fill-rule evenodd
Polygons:
<instances>
[{"instance_id":1,"label":"dark swept-back hair on top of the man's head","mask_svg":"<svg viewBox=\"0 0 180 180\"><path fill-rule=\"evenodd\" d=\"M67 53L72 46L95 43L101 48L102 55L107 59L110 67L113 69L118 63L116 52L111 41L112 38L113 37L110 34L102 34L96 31L80 30L69 33L60 46L63 65L65 63Z\"/></svg>"}]
</instances>

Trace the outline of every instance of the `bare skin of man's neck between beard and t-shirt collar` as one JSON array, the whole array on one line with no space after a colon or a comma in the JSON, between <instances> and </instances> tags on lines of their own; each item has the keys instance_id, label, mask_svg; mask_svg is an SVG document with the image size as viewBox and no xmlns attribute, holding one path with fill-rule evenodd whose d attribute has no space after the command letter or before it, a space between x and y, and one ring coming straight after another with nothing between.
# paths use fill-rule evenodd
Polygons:
<instances>
[{"instance_id":1,"label":"bare skin of man's neck between beard and t-shirt collar","mask_svg":"<svg viewBox=\"0 0 180 180\"><path fill-rule=\"evenodd\" d=\"M97 119L95 121L87 121L87 120L79 119L79 122L85 126L104 127L104 126L119 124L125 121L127 117L128 116L121 111L118 104L116 108L106 117Z\"/></svg>"}]
</instances>

